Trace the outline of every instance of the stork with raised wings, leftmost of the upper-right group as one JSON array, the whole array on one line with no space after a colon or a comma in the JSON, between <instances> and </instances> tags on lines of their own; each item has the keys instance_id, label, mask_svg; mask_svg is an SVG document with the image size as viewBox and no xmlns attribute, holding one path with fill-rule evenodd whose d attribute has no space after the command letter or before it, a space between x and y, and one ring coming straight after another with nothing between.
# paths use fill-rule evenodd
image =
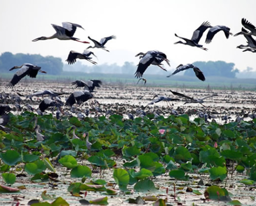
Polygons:
<instances>
[{"instance_id":1,"label":"stork with raised wings, leftmost of the upper-right group","mask_svg":"<svg viewBox=\"0 0 256 206\"><path fill-rule=\"evenodd\" d=\"M196 46L196 47L199 47L201 49L204 49L207 51L207 48L204 48L203 45L200 45L198 44L201 37L203 36L203 33L204 31L207 29L207 28L210 28L210 23L209 22L203 22L203 24L201 24L200 27L197 28L197 30L195 30L193 32L193 36L190 39L186 39L186 38L183 38L183 37L179 37L178 35L176 35L175 33L175 36L180 38L180 39L183 39L185 40L186 42L182 42L182 41L178 41L178 42L175 42L174 44L186 44L186 45L189 45L189 46Z\"/></svg>"}]
</instances>

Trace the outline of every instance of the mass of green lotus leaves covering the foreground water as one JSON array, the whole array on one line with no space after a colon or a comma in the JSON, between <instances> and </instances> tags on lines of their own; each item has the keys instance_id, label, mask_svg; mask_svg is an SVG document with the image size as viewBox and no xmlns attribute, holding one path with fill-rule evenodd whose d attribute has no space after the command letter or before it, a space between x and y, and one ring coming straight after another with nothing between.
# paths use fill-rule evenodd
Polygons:
<instances>
[{"instance_id":1,"label":"mass of green lotus leaves covering the foreground water","mask_svg":"<svg viewBox=\"0 0 256 206\"><path fill-rule=\"evenodd\" d=\"M153 177L165 174L175 181L186 181L194 173L208 174L212 181L224 181L228 175L246 172L248 178L242 183L250 185L256 181L256 119L219 125L200 118L190 121L186 114L167 118L148 114L133 121L119 115L57 120L49 114L37 116L41 133L47 137L38 142L33 130L34 113L9 115L7 127L11 132L0 131L0 171L8 185L16 182L20 174L31 175L34 182L57 178L53 175L56 165L66 167L71 178L81 178L68 187L74 196L80 196L82 191L117 194L103 178L86 183L95 171L103 174L112 168L119 191L127 195L131 188L135 192L156 192ZM72 139L72 126L77 127L80 139ZM89 150L85 132L92 143ZM123 165L117 166L116 157L122 157ZM0 193L3 191L0 186ZM212 185L204 195L225 199L229 192ZM106 198L96 201L99 202L108 203Z\"/></svg>"}]
</instances>

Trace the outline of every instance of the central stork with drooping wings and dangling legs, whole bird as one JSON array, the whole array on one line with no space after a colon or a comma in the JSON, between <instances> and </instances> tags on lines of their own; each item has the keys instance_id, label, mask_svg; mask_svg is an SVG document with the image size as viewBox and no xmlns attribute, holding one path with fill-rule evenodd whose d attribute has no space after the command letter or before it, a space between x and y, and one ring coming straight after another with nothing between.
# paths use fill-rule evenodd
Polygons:
<instances>
[{"instance_id":1,"label":"central stork with drooping wings and dangling legs, whole bird","mask_svg":"<svg viewBox=\"0 0 256 206\"><path fill-rule=\"evenodd\" d=\"M167 71L167 70L165 70L165 68L161 66L162 65L161 62L164 60L170 65L169 63L170 61L167 59L167 56L164 53L159 52L158 50L151 50L151 51L148 51L146 54L139 53L135 57L137 56L141 56L140 57L141 60L139 62L137 71L135 72L135 77L137 78L142 77L143 73L146 71L147 67L150 64L157 65L164 71Z\"/></svg>"}]
</instances>

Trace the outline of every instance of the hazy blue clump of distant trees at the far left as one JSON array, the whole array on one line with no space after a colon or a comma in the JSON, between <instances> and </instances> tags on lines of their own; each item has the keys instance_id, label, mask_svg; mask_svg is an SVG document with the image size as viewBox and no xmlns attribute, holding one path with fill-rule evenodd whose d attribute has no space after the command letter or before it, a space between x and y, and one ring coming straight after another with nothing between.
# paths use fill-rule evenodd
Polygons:
<instances>
[{"instance_id":1,"label":"hazy blue clump of distant trees at the far left","mask_svg":"<svg viewBox=\"0 0 256 206\"><path fill-rule=\"evenodd\" d=\"M63 71L63 62L61 58L53 56L43 57L41 55L16 54L5 52L0 56L0 72L8 72L13 66L19 66L23 63L31 63L41 66L47 74L57 75Z\"/></svg>"}]
</instances>

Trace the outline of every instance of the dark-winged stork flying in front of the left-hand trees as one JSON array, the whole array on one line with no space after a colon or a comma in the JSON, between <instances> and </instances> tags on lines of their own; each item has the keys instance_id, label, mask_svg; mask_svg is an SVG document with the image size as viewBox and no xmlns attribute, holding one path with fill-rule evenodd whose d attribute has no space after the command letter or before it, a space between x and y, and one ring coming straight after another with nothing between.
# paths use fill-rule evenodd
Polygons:
<instances>
[{"instance_id":1,"label":"dark-winged stork flying in front of the left-hand trees","mask_svg":"<svg viewBox=\"0 0 256 206\"><path fill-rule=\"evenodd\" d=\"M14 85L16 85L26 75L28 75L31 78L36 78L38 72L45 74L47 73L42 71L40 66L36 66L29 63L24 63L21 66L13 66L12 68L10 68L9 71L12 71L16 68L19 68L19 70L14 74L10 83L7 85L7 88L13 88Z\"/></svg>"}]
</instances>

